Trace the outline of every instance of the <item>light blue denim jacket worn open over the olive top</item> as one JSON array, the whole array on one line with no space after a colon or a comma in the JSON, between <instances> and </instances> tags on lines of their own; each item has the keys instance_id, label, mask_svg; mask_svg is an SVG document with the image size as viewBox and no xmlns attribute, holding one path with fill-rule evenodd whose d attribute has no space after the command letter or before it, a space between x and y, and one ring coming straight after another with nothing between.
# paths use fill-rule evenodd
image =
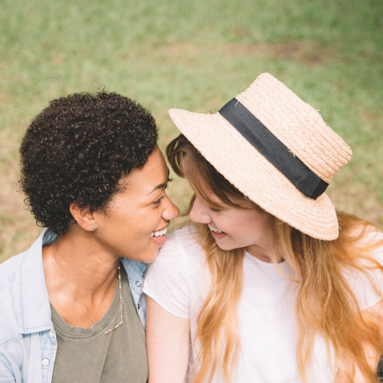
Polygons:
<instances>
[{"instance_id":1,"label":"light blue denim jacket worn open over the olive top","mask_svg":"<svg viewBox=\"0 0 383 383\"><path fill-rule=\"evenodd\" d=\"M0 265L0 383L51 383L57 351L42 246L57 236L45 229L27 250ZM137 313L146 324L142 283L147 265L121 259Z\"/></svg>"}]
</instances>

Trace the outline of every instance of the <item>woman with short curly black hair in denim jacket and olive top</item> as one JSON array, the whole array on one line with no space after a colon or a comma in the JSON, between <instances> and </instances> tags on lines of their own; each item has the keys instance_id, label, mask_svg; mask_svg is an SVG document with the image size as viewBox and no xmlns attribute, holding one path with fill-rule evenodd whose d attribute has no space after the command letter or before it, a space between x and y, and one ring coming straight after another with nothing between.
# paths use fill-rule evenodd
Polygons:
<instances>
[{"instance_id":1,"label":"woman with short curly black hair in denim jacket and olive top","mask_svg":"<svg viewBox=\"0 0 383 383\"><path fill-rule=\"evenodd\" d=\"M179 210L153 116L104 91L51 101L20 148L46 229L0 265L1 382L146 382L146 263Z\"/></svg>"}]
</instances>

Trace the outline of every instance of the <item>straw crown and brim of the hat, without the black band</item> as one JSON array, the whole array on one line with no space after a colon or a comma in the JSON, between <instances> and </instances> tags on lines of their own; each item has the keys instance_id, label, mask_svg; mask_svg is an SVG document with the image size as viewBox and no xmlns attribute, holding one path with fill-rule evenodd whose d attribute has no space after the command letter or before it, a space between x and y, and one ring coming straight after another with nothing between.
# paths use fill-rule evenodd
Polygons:
<instances>
[{"instance_id":1,"label":"straw crown and brim of the hat, without the black band","mask_svg":"<svg viewBox=\"0 0 383 383\"><path fill-rule=\"evenodd\" d=\"M323 181L330 182L349 161L349 146L272 75L260 75L237 99ZM304 196L219 113L170 109L169 114L202 156L256 204L311 237L338 237L330 198Z\"/></svg>"}]
</instances>

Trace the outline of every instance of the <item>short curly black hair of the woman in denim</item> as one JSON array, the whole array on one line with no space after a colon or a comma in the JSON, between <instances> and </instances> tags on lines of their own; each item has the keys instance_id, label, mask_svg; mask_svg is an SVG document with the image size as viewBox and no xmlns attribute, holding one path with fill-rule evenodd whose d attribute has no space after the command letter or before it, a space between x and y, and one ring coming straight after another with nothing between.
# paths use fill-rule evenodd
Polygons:
<instances>
[{"instance_id":1,"label":"short curly black hair of the woman in denim","mask_svg":"<svg viewBox=\"0 0 383 383\"><path fill-rule=\"evenodd\" d=\"M72 202L106 211L122 176L144 166L157 138L150 111L120 94L99 90L51 101L20 148L19 184L38 226L65 233L76 223Z\"/></svg>"}]
</instances>

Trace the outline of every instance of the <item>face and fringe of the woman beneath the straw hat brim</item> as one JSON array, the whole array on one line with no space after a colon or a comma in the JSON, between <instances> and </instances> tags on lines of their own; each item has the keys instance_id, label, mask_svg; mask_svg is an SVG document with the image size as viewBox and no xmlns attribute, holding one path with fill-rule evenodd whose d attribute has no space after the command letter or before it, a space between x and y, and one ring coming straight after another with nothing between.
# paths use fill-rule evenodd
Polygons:
<instances>
[{"instance_id":1,"label":"face and fringe of the woman beneath the straw hat brim","mask_svg":"<svg viewBox=\"0 0 383 383\"><path fill-rule=\"evenodd\" d=\"M274 254L274 217L217 172L184 135L170 142L166 154L174 172L189 181L196 195L190 220L207 224L217 246L222 250L246 248L265 262L274 255L282 258Z\"/></svg>"}]
</instances>

